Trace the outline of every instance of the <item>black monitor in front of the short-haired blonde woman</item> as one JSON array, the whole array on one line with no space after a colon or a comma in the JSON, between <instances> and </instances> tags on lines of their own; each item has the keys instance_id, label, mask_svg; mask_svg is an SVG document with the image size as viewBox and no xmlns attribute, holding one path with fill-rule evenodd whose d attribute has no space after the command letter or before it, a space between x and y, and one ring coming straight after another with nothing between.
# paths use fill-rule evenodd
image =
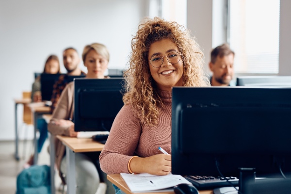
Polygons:
<instances>
[{"instance_id":1,"label":"black monitor in front of the short-haired blonde woman","mask_svg":"<svg viewBox=\"0 0 291 194\"><path fill-rule=\"evenodd\" d=\"M123 79L75 79L75 131L110 131L124 105Z\"/></svg>"}]
</instances>

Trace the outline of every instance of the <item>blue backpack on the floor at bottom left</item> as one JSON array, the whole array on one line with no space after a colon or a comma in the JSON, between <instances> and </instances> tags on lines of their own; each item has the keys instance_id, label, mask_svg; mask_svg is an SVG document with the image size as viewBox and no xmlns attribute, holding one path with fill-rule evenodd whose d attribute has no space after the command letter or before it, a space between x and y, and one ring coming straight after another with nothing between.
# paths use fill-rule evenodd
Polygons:
<instances>
[{"instance_id":1,"label":"blue backpack on the floor at bottom left","mask_svg":"<svg viewBox=\"0 0 291 194\"><path fill-rule=\"evenodd\" d=\"M50 194L50 168L32 165L22 170L16 179L16 194Z\"/></svg>"}]
</instances>

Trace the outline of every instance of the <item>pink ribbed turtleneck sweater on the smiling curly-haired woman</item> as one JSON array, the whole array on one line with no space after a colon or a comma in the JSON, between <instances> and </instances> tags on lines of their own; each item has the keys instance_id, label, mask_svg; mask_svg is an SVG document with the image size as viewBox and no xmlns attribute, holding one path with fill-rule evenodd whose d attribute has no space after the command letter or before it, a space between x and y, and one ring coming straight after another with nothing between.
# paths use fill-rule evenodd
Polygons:
<instances>
[{"instance_id":1,"label":"pink ribbed turtleneck sweater on the smiling curly-haired woman","mask_svg":"<svg viewBox=\"0 0 291 194\"><path fill-rule=\"evenodd\" d=\"M171 153L172 92L161 91L164 107L157 126L149 126L134 115L131 104L124 105L115 117L108 140L99 156L106 174L129 173L132 156L149 157L161 154L158 147Z\"/></svg>"}]
</instances>

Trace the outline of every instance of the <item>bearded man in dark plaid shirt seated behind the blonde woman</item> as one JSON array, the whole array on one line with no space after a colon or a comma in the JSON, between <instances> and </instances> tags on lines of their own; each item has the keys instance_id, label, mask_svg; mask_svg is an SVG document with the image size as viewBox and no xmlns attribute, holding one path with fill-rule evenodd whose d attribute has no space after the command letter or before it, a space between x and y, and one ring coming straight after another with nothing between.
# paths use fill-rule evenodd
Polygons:
<instances>
[{"instance_id":1,"label":"bearded man in dark plaid shirt seated behind the blonde woman","mask_svg":"<svg viewBox=\"0 0 291 194\"><path fill-rule=\"evenodd\" d=\"M80 76L85 75L83 71L81 71L79 67L80 57L76 49L70 47L64 50L63 52L63 62L65 69L67 70L67 74L69 76ZM53 92L51 97L51 112L55 109L57 102L65 89L68 81L65 79L65 75L61 75L59 80L55 82L53 86Z\"/></svg>"}]
</instances>

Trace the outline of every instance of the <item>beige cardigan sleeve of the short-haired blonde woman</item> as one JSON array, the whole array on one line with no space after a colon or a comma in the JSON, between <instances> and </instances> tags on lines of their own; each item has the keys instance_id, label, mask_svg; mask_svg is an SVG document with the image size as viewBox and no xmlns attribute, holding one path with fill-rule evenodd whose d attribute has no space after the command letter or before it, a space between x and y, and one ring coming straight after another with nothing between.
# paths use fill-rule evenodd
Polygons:
<instances>
[{"instance_id":1,"label":"beige cardigan sleeve of the short-haired blonde woman","mask_svg":"<svg viewBox=\"0 0 291 194\"><path fill-rule=\"evenodd\" d=\"M56 125L55 121L59 119L69 120L73 107L74 84L67 84L61 97L57 103L55 110L52 113L52 118L48 124L48 130L53 135L69 136L70 126Z\"/></svg>"}]
</instances>

